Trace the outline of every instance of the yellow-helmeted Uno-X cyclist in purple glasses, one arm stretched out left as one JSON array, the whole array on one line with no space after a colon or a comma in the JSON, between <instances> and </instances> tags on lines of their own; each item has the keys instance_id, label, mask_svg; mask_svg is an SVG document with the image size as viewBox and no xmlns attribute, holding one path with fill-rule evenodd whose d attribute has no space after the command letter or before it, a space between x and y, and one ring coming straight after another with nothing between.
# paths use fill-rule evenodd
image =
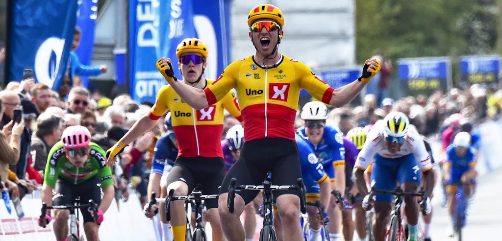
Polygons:
<instances>
[{"instance_id":1,"label":"yellow-helmeted Uno-X cyclist in purple glasses, one arm stretched out left","mask_svg":"<svg viewBox=\"0 0 502 241\"><path fill-rule=\"evenodd\" d=\"M204 78L207 47L199 39L185 39L176 48L178 68L183 75L183 85L203 90L212 80ZM170 82L171 84L174 82ZM178 82L176 82L178 83ZM176 84L175 83L175 84ZM178 141L178 158L161 185L162 196L174 189L175 196L188 195L196 184L202 185L202 193L217 194L218 186L225 175L220 137L223 132L223 108L239 121L240 111L234 94L228 90L220 101L201 109L185 103L173 90L172 85L161 88L150 113L142 116L131 130L106 152L109 163L124 146L136 140L142 133L155 126L157 120L171 110L173 131ZM167 147L166 147L167 148ZM157 182L158 183L158 182ZM152 188L157 190L158 187ZM205 201L207 218L211 223L213 240L223 240L215 199ZM152 217L153 213L146 213ZM184 201L171 202L171 228L174 240L185 240L186 217Z\"/></svg>"}]
</instances>

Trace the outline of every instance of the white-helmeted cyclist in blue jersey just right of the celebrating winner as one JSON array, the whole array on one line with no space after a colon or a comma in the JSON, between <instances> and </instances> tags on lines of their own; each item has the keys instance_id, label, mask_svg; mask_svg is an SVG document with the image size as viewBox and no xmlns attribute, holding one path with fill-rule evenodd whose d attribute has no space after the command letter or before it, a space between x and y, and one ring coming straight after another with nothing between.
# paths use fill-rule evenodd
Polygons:
<instances>
[{"instance_id":1,"label":"white-helmeted cyclist in blue jersey just right of the celebrating winner","mask_svg":"<svg viewBox=\"0 0 502 241\"><path fill-rule=\"evenodd\" d=\"M322 163L324 171L331 181L331 188L338 190L345 196L345 148L343 135L335 128L326 126L328 108L323 102L311 101L306 103L300 113L305 121L305 127L298 129L308 140L308 145ZM341 210L336 205L334 196L330 198L328 215L329 236L332 240L341 237Z\"/></svg>"}]
</instances>

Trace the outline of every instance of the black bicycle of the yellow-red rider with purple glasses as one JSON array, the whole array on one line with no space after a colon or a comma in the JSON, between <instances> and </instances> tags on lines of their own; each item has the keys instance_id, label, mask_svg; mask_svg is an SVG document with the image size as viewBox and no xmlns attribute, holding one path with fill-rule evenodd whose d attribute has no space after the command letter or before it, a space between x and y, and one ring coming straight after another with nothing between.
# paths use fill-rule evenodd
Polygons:
<instances>
[{"instance_id":1,"label":"black bicycle of the yellow-red rider with purple glasses","mask_svg":"<svg viewBox=\"0 0 502 241\"><path fill-rule=\"evenodd\" d=\"M171 189L166 198L155 198L155 192L152 192L152 197L150 199L150 203L148 205L148 211L150 212L152 206L157 202L165 202L166 203L166 218L167 221L171 221L171 201L176 200L185 200L185 212L188 211L188 203L191 203L195 206L195 229L192 233L192 228L190 225L190 220L187 217L187 228L186 228L186 240L194 240L194 241L205 241L207 240L206 231L204 229L204 220L202 218L202 213L204 210L205 199L210 198L218 198L219 194L211 194L211 195L202 195L202 191L200 191L201 185L197 184L193 189L191 195L188 196L173 196L174 190Z\"/></svg>"}]
</instances>

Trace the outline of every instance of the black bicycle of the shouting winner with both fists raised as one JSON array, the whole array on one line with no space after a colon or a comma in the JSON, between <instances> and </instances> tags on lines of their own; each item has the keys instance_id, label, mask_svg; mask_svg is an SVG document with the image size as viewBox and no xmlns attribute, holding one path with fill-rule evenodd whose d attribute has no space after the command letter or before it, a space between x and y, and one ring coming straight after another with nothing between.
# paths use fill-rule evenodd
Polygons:
<instances>
[{"instance_id":1,"label":"black bicycle of the shouting winner with both fists raised","mask_svg":"<svg viewBox=\"0 0 502 241\"><path fill-rule=\"evenodd\" d=\"M227 207L230 213L234 211L235 191L241 190L263 190L263 227L260 231L260 241L277 241L276 230L274 228L274 210L273 210L273 195L272 191L277 190L299 190L300 191L300 210L302 213L307 212L305 199L305 186L303 179L297 179L297 185L272 185L271 174L263 181L263 185L235 185L237 179L232 178L228 186Z\"/></svg>"}]
</instances>

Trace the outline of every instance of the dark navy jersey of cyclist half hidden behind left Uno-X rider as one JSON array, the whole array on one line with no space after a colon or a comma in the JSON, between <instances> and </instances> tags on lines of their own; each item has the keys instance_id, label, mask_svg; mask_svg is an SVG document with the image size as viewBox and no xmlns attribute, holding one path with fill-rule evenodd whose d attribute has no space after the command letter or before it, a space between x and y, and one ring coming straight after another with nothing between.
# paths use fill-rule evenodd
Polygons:
<instances>
[{"instance_id":1,"label":"dark navy jersey of cyclist half hidden behind left Uno-X rider","mask_svg":"<svg viewBox=\"0 0 502 241\"><path fill-rule=\"evenodd\" d=\"M160 137L157 143L155 143L151 173L162 175L169 172L170 169L166 168L174 166L174 161L176 161L177 156L178 148L176 148L169 138L169 133L165 133Z\"/></svg>"}]
</instances>

